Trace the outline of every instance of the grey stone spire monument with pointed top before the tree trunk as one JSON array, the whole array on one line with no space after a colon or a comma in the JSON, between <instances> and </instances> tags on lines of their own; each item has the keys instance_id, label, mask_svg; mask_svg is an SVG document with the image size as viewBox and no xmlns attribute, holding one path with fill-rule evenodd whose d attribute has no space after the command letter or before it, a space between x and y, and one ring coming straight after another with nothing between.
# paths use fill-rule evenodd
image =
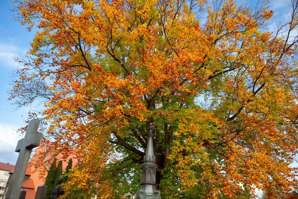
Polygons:
<instances>
[{"instance_id":1,"label":"grey stone spire monument with pointed top before the tree trunk","mask_svg":"<svg viewBox=\"0 0 298 199\"><path fill-rule=\"evenodd\" d=\"M155 156L153 151L152 124L149 125L149 134L146 155L142 169L141 189L138 190L135 199L161 199L160 191L156 190L156 170Z\"/></svg>"}]
</instances>

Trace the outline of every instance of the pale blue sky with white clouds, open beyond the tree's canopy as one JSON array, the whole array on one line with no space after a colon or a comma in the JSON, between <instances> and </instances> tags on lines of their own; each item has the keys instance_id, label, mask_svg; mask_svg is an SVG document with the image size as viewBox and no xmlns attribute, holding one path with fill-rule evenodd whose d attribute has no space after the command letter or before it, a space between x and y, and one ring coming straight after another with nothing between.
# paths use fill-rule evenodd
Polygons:
<instances>
[{"instance_id":1,"label":"pale blue sky with white clouds, open beyond the tree's canopy","mask_svg":"<svg viewBox=\"0 0 298 199\"><path fill-rule=\"evenodd\" d=\"M254 5L256 1L248 0L247 3ZM272 0L271 9L276 16L272 26L276 21L283 21L283 18L287 20L290 16L291 9L287 2ZM11 88L9 74L17 67L14 57L25 54L30 49L35 32L28 32L26 26L15 21L15 13L10 11L11 8L9 0L0 0L0 162L15 164L18 154L14 150L17 140L20 139L16 129L25 126L24 120L27 118L28 110L36 107L24 107L13 111L14 107L7 101L7 91Z\"/></svg>"}]
</instances>

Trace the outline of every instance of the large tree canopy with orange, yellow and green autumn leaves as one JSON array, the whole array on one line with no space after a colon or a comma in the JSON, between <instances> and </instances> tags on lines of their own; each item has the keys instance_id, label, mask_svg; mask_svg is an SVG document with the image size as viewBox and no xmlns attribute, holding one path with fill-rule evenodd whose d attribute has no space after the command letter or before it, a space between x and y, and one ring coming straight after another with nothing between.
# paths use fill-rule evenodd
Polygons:
<instances>
[{"instance_id":1,"label":"large tree canopy with orange, yellow and green autumn leaves","mask_svg":"<svg viewBox=\"0 0 298 199\"><path fill-rule=\"evenodd\" d=\"M292 8L273 31L267 1L17 0L18 20L37 31L10 99L44 102L48 134L81 159L70 190L135 193L152 122L162 197L258 188L291 198L297 0Z\"/></svg>"}]
</instances>

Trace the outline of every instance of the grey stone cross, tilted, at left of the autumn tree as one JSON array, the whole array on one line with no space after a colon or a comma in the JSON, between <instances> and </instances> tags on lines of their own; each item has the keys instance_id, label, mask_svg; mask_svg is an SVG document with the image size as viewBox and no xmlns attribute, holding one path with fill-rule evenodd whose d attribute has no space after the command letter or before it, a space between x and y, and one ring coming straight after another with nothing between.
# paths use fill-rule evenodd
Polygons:
<instances>
[{"instance_id":1,"label":"grey stone cross, tilted, at left of the autumn tree","mask_svg":"<svg viewBox=\"0 0 298 199\"><path fill-rule=\"evenodd\" d=\"M32 119L28 124L25 137L20 139L16 145L15 152L19 152L19 155L5 199L19 198L32 149L39 146L41 142L42 133L37 132L39 123L38 119Z\"/></svg>"}]
</instances>

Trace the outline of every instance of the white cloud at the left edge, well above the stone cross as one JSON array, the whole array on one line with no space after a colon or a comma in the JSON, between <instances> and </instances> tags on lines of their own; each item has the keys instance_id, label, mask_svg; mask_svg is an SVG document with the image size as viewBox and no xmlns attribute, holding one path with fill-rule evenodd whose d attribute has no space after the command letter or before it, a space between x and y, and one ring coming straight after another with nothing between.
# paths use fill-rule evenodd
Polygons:
<instances>
[{"instance_id":1,"label":"white cloud at the left edge, well above the stone cross","mask_svg":"<svg viewBox=\"0 0 298 199\"><path fill-rule=\"evenodd\" d=\"M15 58L19 54L24 53L24 50L15 45L0 43L0 67L16 68L18 63L15 61Z\"/></svg>"}]
</instances>

